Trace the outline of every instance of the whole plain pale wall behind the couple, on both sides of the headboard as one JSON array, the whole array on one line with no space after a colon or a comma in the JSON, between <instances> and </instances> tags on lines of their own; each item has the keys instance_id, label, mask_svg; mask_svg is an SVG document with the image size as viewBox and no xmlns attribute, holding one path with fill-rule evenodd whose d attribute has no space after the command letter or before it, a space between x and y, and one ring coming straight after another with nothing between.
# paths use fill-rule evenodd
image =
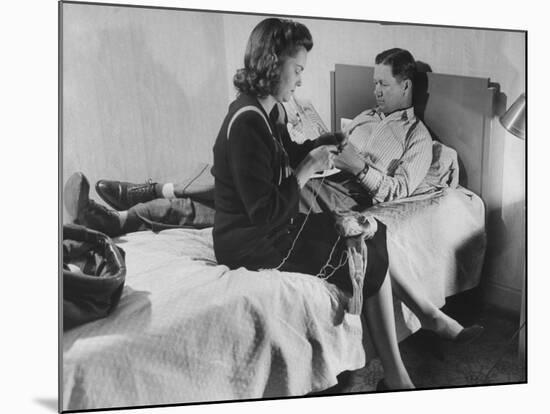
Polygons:
<instances>
[{"instance_id":1,"label":"whole plain pale wall behind the couple, on both sides of the headboard","mask_svg":"<svg viewBox=\"0 0 550 414\"><path fill-rule=\"evenodd\" d=\"M261 16L63 5L63 176L178 180L211 149ZM372 65L409 49L434 72L490 78L509 106L525 91L519 32L296 19L314 38L303 86L330 126L336 63ZM502 110L502 108L501 108ZM495 116L484 189L491 235L488 299L519 309L525 251L524 142ZM95 196L92 192L92 196Z\"/></svg>"}]
</instances>

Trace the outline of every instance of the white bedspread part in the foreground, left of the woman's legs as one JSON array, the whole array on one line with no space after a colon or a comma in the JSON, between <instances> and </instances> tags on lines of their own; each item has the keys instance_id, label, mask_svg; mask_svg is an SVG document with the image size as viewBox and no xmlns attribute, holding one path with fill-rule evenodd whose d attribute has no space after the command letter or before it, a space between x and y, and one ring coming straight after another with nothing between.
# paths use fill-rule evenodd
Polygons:
<instances>
[{"instance_id":1,"label":"white bedspread part in the foreground, left of the woman's legs","mask_svg":"<svg viewBox=\"0 0 550 414\"><path fill-rule=\"evenodd\" d=\"M64 409L302 395L364 366L360 320L332 285L215 265L211 229L120 242L119 306L64 335Z\"/></svg>"}]
</instances>

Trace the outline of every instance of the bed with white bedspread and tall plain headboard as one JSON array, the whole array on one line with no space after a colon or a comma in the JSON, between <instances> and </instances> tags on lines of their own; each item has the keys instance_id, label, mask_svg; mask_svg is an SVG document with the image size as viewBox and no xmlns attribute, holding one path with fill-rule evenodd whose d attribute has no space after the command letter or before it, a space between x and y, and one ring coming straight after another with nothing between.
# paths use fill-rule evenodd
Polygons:
<instances>
[{"instance_id":1,"label":"bed with white bedspread and tall plain headboard","mask_svg":"<svg viewBox=\"0 0 550 414\"><path fill-rule=\"evenodd\" d=\"M369 106L370 79L370 67L336 65L333 128ZM418 278L442 306L480 280L494 91L488 79L432 73L425 86L417 111L457 150L460 185L370 212L388 227L390 273ZM118 307L62 337L64 410L305 395L374 356L337 288L298 273L230 271L215 261L210 228L137 232L116 242L127 265ZM401 340L419 322L398 300L394 306Z\"/></svg>"}]
</instances>

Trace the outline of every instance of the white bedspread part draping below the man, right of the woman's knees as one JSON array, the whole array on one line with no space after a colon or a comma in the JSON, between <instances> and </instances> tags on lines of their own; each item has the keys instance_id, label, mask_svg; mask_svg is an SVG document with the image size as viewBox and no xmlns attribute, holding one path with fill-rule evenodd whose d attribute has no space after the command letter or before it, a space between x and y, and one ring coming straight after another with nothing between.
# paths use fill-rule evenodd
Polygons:
<instances>
[{"instance_id":1,"label":"white bedspread part draping below the man, right of the woman's knees","mask_svg":"<svg viewBox=\"0 0 550 414\"><path fill-rule=\"evenodd\" d=\"M438 307L445 298L479 284L487 243L485 206L459 187L377 204L369 213L386 224L390 274L416 279ZM416 316L394 300L397 336L420 328ZM367 338L370 359L373 348Z\"/></svg>"}]
</instances>

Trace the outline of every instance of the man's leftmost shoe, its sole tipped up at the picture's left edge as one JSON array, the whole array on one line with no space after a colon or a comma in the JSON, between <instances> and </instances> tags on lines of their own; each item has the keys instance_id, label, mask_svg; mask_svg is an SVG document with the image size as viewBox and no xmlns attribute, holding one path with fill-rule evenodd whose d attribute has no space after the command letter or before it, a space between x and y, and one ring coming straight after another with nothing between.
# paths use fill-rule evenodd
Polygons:
<instances>
[{"instance_id":1,"label":"man's leftmost shoe, its sole tipped up at the picture's left edge","mask_svg":"<svg viewBox=\"0 0 550 414\"><path fill-rule=\"evenodd\" d=\"M115 237L122 234L118 214L90 200L90 183L84 174L77 172L63 187L63 201L67 212L76 224Z\"/></svg>"}]
</instances>

